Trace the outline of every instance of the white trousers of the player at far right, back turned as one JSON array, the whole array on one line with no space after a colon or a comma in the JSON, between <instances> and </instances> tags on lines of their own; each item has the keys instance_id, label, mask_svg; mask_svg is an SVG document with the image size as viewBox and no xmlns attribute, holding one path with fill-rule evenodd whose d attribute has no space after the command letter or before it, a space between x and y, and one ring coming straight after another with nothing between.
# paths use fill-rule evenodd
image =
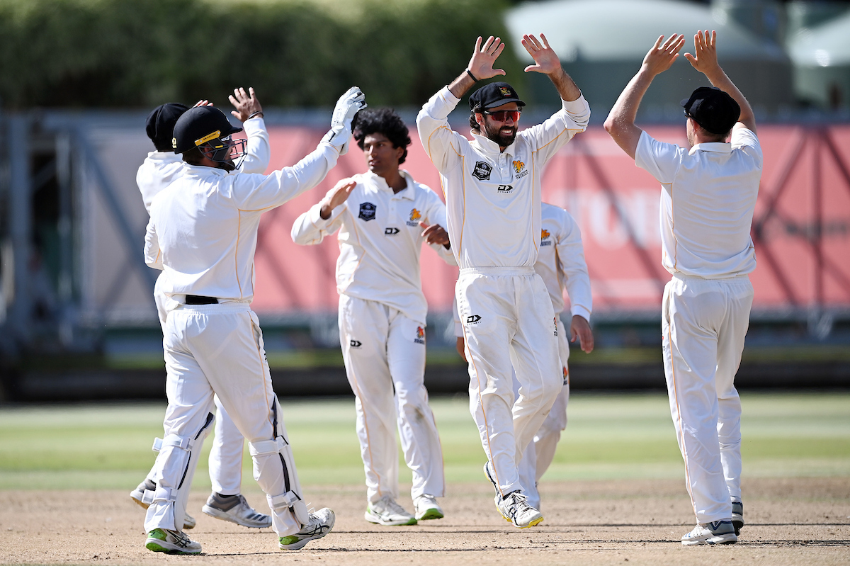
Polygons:
<instances>
[{"instance_id":1,"label":"white trousers of the player at far right, back turned","mask_svg":"<svg viewBox=\"0 0 850 566\"><path fill-rule=\"evenodd\" d=\"M670 412L698 523L732 517L740 498L741 405L734 376L750 324L750 278L673 275L661 305Z\"/></svg>"}]
</instances>

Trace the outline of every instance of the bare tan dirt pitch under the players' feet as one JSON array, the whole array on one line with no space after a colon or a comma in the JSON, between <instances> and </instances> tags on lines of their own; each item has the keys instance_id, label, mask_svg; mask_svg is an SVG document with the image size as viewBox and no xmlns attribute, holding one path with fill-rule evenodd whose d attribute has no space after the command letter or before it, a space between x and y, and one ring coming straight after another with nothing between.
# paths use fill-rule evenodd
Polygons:
<instances>
[{"instance_id":1,"label":"bare tan dirt pitch under the players' feet","mask_svg":"<svg viewBox=\"0 0 850 566\"><path fill-rule=\"evenodd\" d=\"M245 529L200 512L195 490L189 532L199 557L144 548L142 510L119 491L0 492L0 562L38 564L848 564L850 479L752 479L745 482L745 528L729 546L682 546L692 526L683 482L559 482L541 486L543 524L514 529L496 512L490 487L452 484L446 517L413 527L363 520L364 490L307 490L315 507L331 507L330 535L298 552L277 550L270 529ZM261 492L247 491L255 507ZM409 497L401 502L410 507Z\"/></svg>"}]
</instances>

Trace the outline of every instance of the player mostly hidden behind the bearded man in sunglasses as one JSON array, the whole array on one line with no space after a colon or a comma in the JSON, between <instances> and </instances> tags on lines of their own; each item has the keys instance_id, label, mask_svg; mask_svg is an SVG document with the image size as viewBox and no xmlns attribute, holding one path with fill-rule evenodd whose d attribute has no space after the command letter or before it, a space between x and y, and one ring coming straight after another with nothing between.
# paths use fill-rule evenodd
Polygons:
<instances>
[{"instance_id":1,"label":"player mostly hidden behind the bearded man in sunglasses","mask_svg":"<svg viewBox=\"0 0 850 566\"><path fill-rule=\"evenodd\" d=\"M553 310L560 314L564 310L564 290L570 297L570 334L558 315L558 354L561 359L561 371L564 376L564 388L558 393L558 399L552 410L525 449L519 463L519 482L523 486L529 505L540 509L540 493L537 484L552 464L555 449L561 439L561 431L567 427L567 405L570 402L570 342L579 341L581 349L590 354L593 351L593 332L590 328L590 314L593 309L590 277L587 275L587 263L584 247L581 245L581 230L570 212L547 202L541 207L540 253L534 269L540 275ZM464 354L463 326L455 308L455 336L457 353ZM513 393L519 390L519 381L514 376Z\"/></svg>"}]
</instances>

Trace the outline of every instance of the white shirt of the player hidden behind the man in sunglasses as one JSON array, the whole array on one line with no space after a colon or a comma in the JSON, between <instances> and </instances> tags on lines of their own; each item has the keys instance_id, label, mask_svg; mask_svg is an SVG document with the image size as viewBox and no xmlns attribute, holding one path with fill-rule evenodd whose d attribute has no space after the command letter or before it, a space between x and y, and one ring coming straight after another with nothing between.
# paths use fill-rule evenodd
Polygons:
<instances>
[{"instance_id":1,"label":"white shirt of the player hidden behind the man in sunglasses","mask_svg":"<svg viewBox=\"0 0 850 566\"><path fill-rule=\"evenodd\" d=\"M540 254L534 270L543 279L556 313L564 310L564 289L570 296L570 313L590 321L593 301L590 277L581 245L581 230L570 212L547 202L541 209Z\"/></svg>"}]
</instances>

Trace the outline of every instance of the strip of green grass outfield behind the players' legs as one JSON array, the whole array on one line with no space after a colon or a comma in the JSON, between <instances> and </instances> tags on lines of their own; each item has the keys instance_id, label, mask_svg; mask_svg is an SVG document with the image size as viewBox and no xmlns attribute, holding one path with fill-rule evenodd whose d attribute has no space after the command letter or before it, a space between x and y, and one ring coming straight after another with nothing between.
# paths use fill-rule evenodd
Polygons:
<instances>
[{"instance_id":1,"label":"strip of green grass outfield behind the players' legs","mask_svg":"<svg viewBox=\"0 0 850 566\"><path fill-rule=\"evenodd\" d=\"M850 477L850 393L743 393L744 475ZM479 482L481 450L467 399L431 403L449 482ZM10 407L0 410L0 490L130 490L154 459L163 403ZM354 400L283 403L303 484L360 484ZM682 478L662 393L570 399L570 424L547 479ZM205 452L212 442L207 439ZM410 472L400 467L403 482ZM243 477L252 477L244 459ZM195 486L210 486L207 458Z\"/></svg>"}]
</instances>

